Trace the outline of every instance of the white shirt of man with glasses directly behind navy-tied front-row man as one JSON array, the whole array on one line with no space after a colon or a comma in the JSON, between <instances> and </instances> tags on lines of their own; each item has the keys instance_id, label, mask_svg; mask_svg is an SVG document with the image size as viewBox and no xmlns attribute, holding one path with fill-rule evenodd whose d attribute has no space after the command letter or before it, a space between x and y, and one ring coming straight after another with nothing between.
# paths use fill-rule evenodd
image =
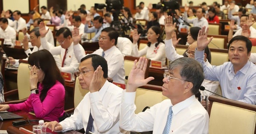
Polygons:
<instances>
[{"instance_id":1,"label":"white shirt of man with glasses directly behind navy-tied front-row man","mask_svg":"<svg viewBox=\"0 0 256 134\"><path fill-rule=\"evenodd\" d=\"M99 48L94 51L93 54L102 56L103 49ZM85 57L84 48L80 44L74 45L74 53L76 59L80 62ZM112 46L108 50L104 51L105 60L108 63L108 77L111 77L113 81L118 83L125 83L125 69L124 69L124 57L116 46Z\"/></svg>"}]
</instances>

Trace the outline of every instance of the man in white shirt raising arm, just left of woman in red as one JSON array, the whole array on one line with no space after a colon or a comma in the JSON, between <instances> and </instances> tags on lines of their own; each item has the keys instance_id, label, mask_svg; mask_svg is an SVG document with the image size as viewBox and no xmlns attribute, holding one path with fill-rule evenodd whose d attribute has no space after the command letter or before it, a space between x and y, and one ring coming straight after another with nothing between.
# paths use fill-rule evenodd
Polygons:
<instances>
[{"instance_id":1,"label":"man in white shirt raising arm, just left of woman in red","mask_svg":"<svg viewBox=\"0 0 256 134\"><path fill-rule=\"evenodd\" d=\"M197 9L196 11L196 18L188 19L187 11L189 11L189 7L185 5L185 11L184 11L184 20L187 23L192 23L193 26L206 26L208 27L208 21L204 18L205 10L202 8Z\"/></svg>"}]
</instances>

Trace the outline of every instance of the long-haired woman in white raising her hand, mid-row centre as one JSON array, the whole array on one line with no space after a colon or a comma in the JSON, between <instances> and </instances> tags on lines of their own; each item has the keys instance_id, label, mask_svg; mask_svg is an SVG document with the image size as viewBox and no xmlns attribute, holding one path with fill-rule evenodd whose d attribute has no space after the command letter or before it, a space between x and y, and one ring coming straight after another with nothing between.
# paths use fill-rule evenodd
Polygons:
<instances>
[{"instance_id":1,"label":"long-haired woman in white raising her hand, mid-row centre","mask_svg":"<svg viewBox=\"0 0 256 134\"><path fill-rule=\"evenodd\" d=\"M166 56L164 51L164 42L162 37L160 36L161 29L157 26L152 26L148 29L147 38L148 44L145 48L138 50L138 40L140 38L140 34L138 34L137 29L133 31L133 45L132 45L132 55L135 57L141 57L146 55L146 58L151 60L161 61L162 65L166 63Z\"/></svg>"}]
</instances>

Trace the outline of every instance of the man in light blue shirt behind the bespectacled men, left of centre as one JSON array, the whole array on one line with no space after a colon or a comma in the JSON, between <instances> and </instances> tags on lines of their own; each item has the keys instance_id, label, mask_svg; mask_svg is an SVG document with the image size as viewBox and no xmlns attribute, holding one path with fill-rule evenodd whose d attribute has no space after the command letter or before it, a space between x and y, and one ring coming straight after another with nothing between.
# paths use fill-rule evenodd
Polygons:
<instances>
[{"instance_id":1,"label":"man in light blue shirt behind the bespectacled men, left of centre","mask_svg":"<svg viewBox=\"0 0 256 134\"><path fill-rule=\"evenodd\" d=\"M103 24L103 18L100 16L96 16L93 18L93 27L88 27L89 21L86 21L84 25L84 33L93 33L95 32L95 36L91 39L93 41L98 41L99 35L106 26Z\"/></svg>"}]
</instances>

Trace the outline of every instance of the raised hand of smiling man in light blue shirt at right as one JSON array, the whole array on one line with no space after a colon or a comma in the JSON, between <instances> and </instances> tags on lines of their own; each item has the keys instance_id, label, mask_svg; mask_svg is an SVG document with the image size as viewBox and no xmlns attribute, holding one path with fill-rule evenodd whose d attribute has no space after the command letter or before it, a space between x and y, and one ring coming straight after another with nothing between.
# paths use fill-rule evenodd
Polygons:
<instances>
[{"instance_id":1,"label":"raised hand of smiling man in light blue shirt at right","mask_svg":"<svg viewBox=\"0 0 256 134\"><path fill-rule=\"evenodd\" d=\"M208 31L209 31L209 28L206 29L206 32L205 31L205 26L202 27L201 30L199 30L198 32L198 39L197 39L197 45L198 45L198 51L203 51L204 48L207 47L207 45L212 41L213 37L210 37L210 39L208 40L207 39L207 34L208 34Z\"/></svg>"}]
</instances>

